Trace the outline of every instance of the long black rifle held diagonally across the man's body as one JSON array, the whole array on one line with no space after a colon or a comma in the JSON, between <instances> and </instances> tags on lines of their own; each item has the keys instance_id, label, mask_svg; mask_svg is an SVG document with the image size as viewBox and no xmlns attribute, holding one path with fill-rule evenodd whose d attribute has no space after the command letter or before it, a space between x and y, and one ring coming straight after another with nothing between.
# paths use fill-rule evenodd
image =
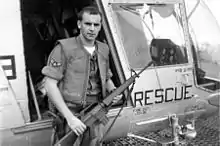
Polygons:
<instances>
[{"instance_id":1,"label":"long black rifle held diagonally across the man's body","mask_svg":"<svg viewBox=\"0 0 220 146\"><path fill-rule=\"evenodd\" d=\"M112 100L115 96L121 94L129 85L135 82L135 79L147 69L153 62L149 62L139 73L135 73L128 80L126 80L121 86L110 93L101 103L94 103L89 105L87 108L83 109L79 113L81 121L87 126L92 126L95 122L106 125L108 123L108 113L109 108L112 106ZM64 137L62 137L55 146L72 146L77 139L77 135L71 130Z\"/></svg>"}]
</instances>

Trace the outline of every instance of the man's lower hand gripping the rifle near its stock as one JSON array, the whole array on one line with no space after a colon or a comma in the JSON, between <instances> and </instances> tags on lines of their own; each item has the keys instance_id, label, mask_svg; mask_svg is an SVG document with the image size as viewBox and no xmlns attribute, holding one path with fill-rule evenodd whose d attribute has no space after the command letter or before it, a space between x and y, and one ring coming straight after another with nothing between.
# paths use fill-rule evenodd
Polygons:
<instances>
[{"instance_id":1,"label":"man's lower hand gripping the rifle near its stock","mask_svg":"<svg viewBox=\"0 0 220 146\"><path fill-rule=\"evenodd\" d=\"M77 136L82 135L86 130L86 125L75 116L67 119L67 123Z\"/></svg>"}]
</instances>

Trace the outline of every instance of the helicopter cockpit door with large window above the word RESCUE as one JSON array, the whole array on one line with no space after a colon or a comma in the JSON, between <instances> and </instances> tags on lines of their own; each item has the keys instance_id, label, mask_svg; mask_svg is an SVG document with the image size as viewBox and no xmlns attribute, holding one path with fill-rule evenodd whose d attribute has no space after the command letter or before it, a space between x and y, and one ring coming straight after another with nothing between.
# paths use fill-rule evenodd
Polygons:
<instances>
[{"instance_id":1,"label":"helicopter cockpit door with large window above the word RESCUE","mask_svg":"<svg viewBox=\"0 0 220 146\"><path fill-rule=\"evenodd\" d=\"M179 105L190 102L193 88L183 1L111 0L106 9L126 78L153 61L131 94L130 131L145 130L147 120L183 112Z\"/></svg>"}]
</instances>

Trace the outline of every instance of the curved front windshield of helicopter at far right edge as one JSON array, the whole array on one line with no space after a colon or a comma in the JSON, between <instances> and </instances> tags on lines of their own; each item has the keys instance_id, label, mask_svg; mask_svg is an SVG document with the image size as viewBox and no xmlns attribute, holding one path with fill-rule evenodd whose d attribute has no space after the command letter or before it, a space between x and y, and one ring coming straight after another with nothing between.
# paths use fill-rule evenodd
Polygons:
<instances>
[{"instance_id":1,"label":"curved front windshield of helicopter at far right edge","mask_svg":"<svg viewBox=\"0 0 220 146\"><path fill-rule=\"evenodd\" d=\"M197 84L211 91L219 90L220 26L203 0L190 0L185 4Z\"/></svg>"}]
</instances>

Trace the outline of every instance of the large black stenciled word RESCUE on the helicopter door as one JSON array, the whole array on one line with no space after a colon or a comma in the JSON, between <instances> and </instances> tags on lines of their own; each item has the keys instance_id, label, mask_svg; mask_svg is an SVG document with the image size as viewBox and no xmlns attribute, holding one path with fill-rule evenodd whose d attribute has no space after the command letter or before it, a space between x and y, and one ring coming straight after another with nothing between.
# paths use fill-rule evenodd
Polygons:
<instances>
[{"instance_id":1,"label":"large black stenciled word RESCUE on the helicopter door","mask_svg":"<svg viewBox=\"0 0 220 146\"><path fill-rule=\"evenodd\" d=\"M136 105L145 106L187 100L192 98L190 95L191 88L192 85L186 85L182 87L136 91L134 92L133 103L136 107Z\"/></svg>"}]
</instances>

